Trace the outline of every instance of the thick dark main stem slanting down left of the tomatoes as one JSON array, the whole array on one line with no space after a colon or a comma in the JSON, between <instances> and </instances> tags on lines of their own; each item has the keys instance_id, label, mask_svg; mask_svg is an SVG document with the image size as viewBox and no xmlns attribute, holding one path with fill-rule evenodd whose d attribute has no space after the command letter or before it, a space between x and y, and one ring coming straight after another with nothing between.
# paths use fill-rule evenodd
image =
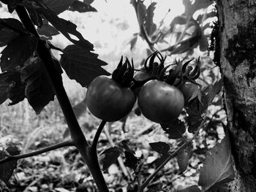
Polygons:
<instances>
[{"instance_id":1,"label":"thick dark main stem slanting down left of the tomatoes","mask_svg":"<svg viewBox=\"0 0 256 192\"><path fill-rule=\"evenodd\" d=\"M31 22L31 18L29 18L29 14L26 12L26 9L21 6L17 6L15 10L18 13L21 22L23 23L23 26L25 26L25 28L30 31L31 34L34 34L34 37L39 39L39 34L37 34L37 30L34 28L34 24ZM39 55L39 58L41 58L50 82L53 85L53 90L55 91L57 99L59 100L61 110L64 113L64 117L67 121L70 135L75 147L78 148L78 151L82 155L83 160L89 167L99 192L108 192L108 186L105 183L105 179L99 167L97 150L94 150L90 147L89 142L87 141L83 131L79 126L78 120L75 117L75 113L72 110L69 98L64 89L61 75L53 63L53 58L47 42L40 39L38 40L37 54Z\"/></svg>"}]
</instances>

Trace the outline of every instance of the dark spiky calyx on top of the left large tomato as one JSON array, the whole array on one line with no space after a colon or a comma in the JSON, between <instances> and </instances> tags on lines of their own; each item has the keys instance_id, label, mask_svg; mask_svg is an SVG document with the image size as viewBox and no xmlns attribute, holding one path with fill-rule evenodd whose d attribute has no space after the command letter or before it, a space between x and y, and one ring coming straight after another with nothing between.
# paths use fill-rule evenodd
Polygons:
<instances>
[{"instance_id":1,"label":"dark spiky calyx on top of the left large tomato","mask_svg":"<svg viewBox=\"0 0 256 192\"><path fill-rule=\"evenodd\" d=\"M112 79L118 82L119 85L129 88L132 85L133 76L134 76L133 60L131 64L128 58L126 58L123 64L123 56L121 56L118 66L113 71Z\"/></svg>"}]
</instances>

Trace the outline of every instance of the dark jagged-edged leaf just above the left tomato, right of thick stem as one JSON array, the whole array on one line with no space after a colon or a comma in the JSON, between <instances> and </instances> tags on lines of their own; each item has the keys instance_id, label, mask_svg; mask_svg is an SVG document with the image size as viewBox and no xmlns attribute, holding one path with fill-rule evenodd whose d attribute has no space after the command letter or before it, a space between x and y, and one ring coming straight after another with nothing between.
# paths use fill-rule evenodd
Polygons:
<instances>
[{"instance_id":1,"label":"dark jagged-edged leaf just above the left tomato, right of thick stem","mask_svg":"<svg viewBox=\"0 0 256 192\"><path fill-rule=\"evenodd\" d=\"M107 63L97 57L97 54L91 53L89 50L69 45L63 50L60 62L71 80L76 80L83 87L87 87L95 77L102 74L109 75L101 67Z\"/></svg>"}]
</instances>

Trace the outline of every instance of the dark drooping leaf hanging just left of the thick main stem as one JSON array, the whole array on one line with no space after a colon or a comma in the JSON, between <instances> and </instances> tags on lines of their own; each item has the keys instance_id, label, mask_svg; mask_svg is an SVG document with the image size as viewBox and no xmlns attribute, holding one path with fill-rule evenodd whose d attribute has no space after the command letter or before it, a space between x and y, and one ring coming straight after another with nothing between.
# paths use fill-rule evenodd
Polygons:
<instances>
[{"instance_id":1,"label":"dark drooping leaf hanging just left of the thick main stem","mask_svg":"<svg viewBox=\"0 0 256 192\"><path fill-rule=\"evenodd\" d=\"M54 99L54 91L39 58L32 57L21 71L21 80L26 83L25 96L34 111L41 110Z\"/></svg>"}]
</instances>

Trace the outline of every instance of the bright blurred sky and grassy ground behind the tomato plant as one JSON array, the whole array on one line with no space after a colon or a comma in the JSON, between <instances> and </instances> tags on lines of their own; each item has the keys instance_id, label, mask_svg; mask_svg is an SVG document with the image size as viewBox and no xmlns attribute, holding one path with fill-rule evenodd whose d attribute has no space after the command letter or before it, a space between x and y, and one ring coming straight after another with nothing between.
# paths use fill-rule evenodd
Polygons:
<instances>
[{"instance_id":1,"label":"bright blurred sky and grassy ground behind the tomato plant","mask_svg":"<svg viewBox=\"0 0 256 192\"><path fill-rule=\"evenodd\" d=\"M170 28L173 18L185 12L184 1L181 0L159 0L156 1L154 10L154 23L161 25L163 31ZM144 1L148 6L150 0ZM70 20L78 26L78 31L83 37L94 44L94 53L99 54L99 58L108 63L104 66L108 72L113 72L121 55L133 58L135 67L138 69L143 58L148 56L148 44L145 39L138 36L137 41L131 50L131 41L140 33L135 9L129 1L120 0L95 0L92 7L97 12L62 12L59 17ZM198 9L192 14L193 18L213 12L214 6L207 9ZM0 7L1 18L17 18L11 15L7 7L3 4ZM208 20L207 20L208 19ZM208 23L208 28L204 31L208 42L210 42L211 23L216 20L214 17L204 18L200 27ZM159 24L160 23L160 24ZM176 25L178 31L184 31L184 25ZM167 29L166 29L167 30ZM188 30L189 31L189 30ZM177 39L177 32L169 34L170 40L167 45ZM191 34L187 34L188 36ZM174 38L174 40L173 40ZM54 36L50 40L56 47L64 48L71 44L62 35ZM166 43L166 42L165 42ZM2 50L4 47L0 47ZM162 45L156 45L157 49L162 49ZM60 53L56 50L53 55L60 58ZM165 55L165 52L162 53ZM219 77L219 69L212 61L213 53L208 49L202 51L200 46L192 48L192 51L169 55L167 62L173 62L176 58L198 58L202 61L202 75L200 77L203 85L211 85ZM74 106L75 114L78 117L83 131L89 137L94 134L99 126L100 120L94 118L86 110L86 88L82 88L75 80L69 80L63 74L64 87L67 90L69 100ZM18 145L21 153L37 150L40 147L53 145L69 137L64 115L61 112L58 101L52 101L45 107L39 115L36 115L28 102L24 100L15 106L8 106L10 101L6 101L0 106L0 147L5 148L10 145ZM157 175L147 191L175 191L189 185L196 185L198 180L198 170L202 166L206 150L214 146L223 137L223 131L219 124L225 123L225 112L222 110L221 94L214 100L214 106L208 109L208 128L200 133L200 137L193 142L193 153L189 161L189 168L185 172L178 171L176 158L173 158L164 169ZM189 136L189 134L188 134ZM177 142L168 139L160 126L152 123L142 115L135 115L132 111L124 121L108 123L102 137L99 139L98 150L102 153L108 147L118 146L121 141L129 140L138 158L141 159L143 177L148 177L154 172L160 162L161 156L151 150L150 142L167 142L175 149ZM99 155L99 159L102 155ZM111 165L104 172L106 182L110 191L131 191L134 175L132 171L124 166L124 160L119 158L116 164ZM1 183L4 186L4 183ZM37 155L18 161L18 169L12 175L12 179L7 185L10 191L96 191L89 171L86 169L83 159L78 151L73 147L55 150L47 154Z\"/></svg>"}]
</instances>

